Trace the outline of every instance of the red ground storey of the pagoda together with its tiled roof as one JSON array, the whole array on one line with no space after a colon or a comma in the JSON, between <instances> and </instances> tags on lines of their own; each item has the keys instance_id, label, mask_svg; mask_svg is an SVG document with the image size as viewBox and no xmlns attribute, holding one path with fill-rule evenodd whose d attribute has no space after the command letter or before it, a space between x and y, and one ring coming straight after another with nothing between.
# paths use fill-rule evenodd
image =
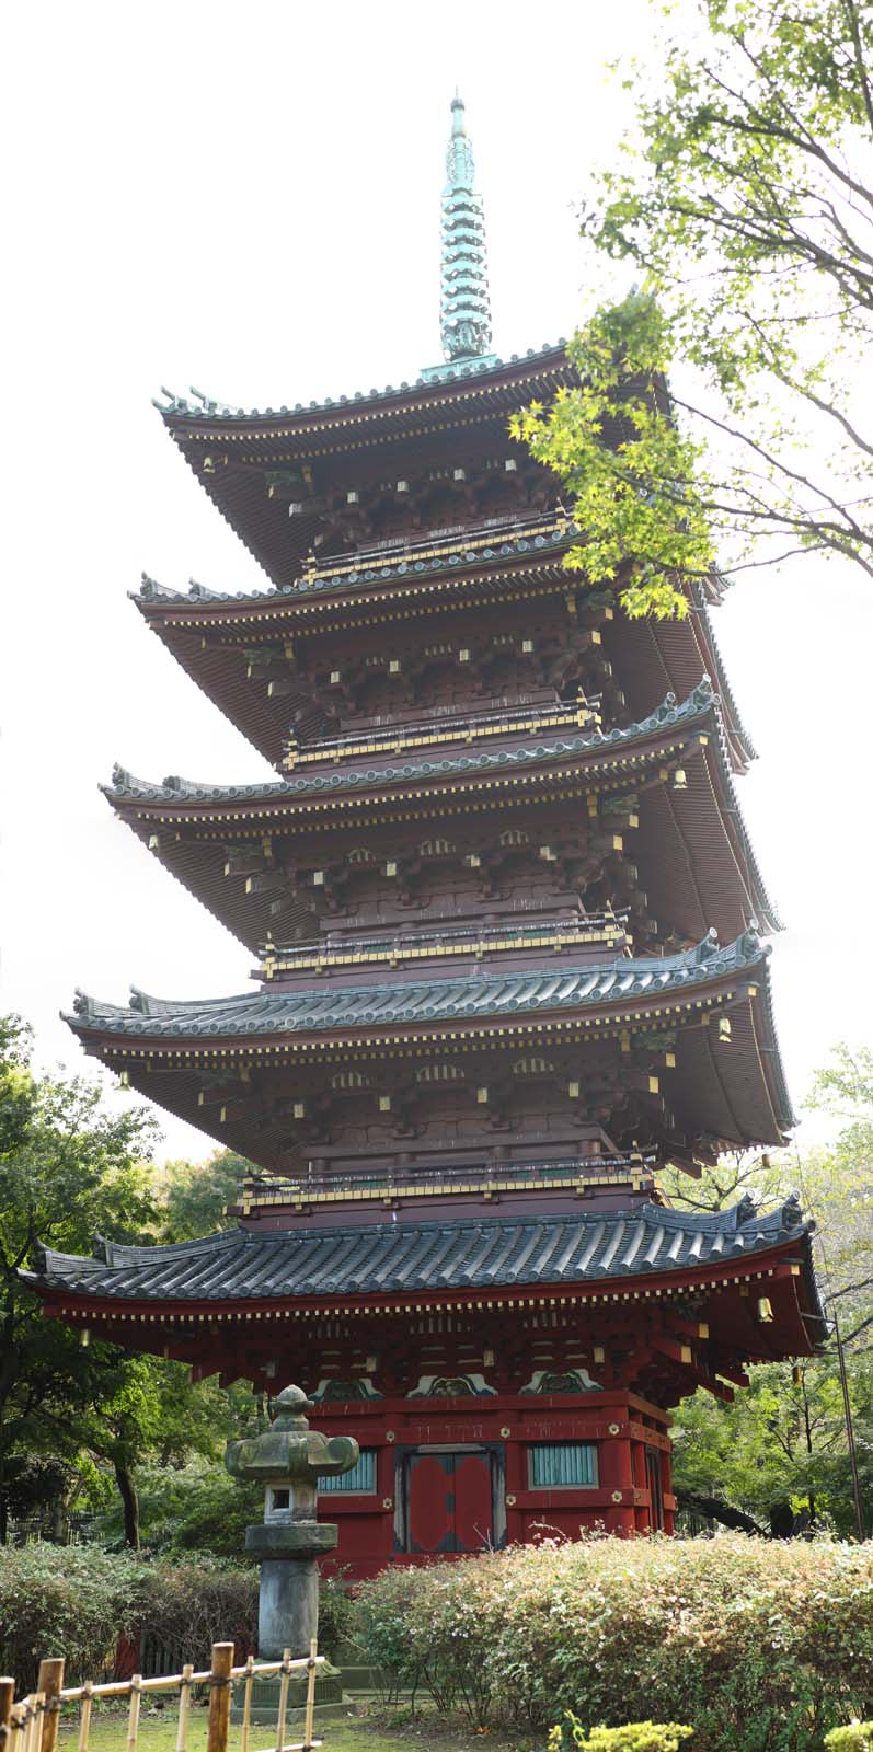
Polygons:
<instances>
[{"instance_id":1,"label":"red ground storey of the pagoda together with its tiled roof","mask_svg":"<svg viewBox=\"0 0 873 1752\"><path fill-rule=\"evenodd\" d=\"M670 1533L670 1407L698 1386L731 1400L747 1363L810 1354L822 1330L796 1200L249 1216L37 1267L47 1314L195 1379L296 1381L328 1435L354 1435L321 1505L354 1579L549 1531Z\"/></svg>"}]
</instances>

